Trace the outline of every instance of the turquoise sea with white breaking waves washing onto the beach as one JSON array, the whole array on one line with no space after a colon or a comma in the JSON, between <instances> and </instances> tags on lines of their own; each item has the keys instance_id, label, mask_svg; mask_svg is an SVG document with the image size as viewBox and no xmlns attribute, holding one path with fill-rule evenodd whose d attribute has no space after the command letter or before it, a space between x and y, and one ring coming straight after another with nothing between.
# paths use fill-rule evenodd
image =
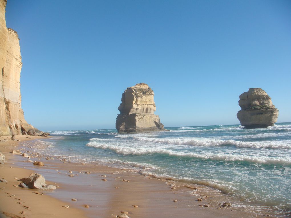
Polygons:
<instances>
[{"instance_id":1,"label":"turquoise sea with white breaking waves washing onto the beach","mask_svg":"<svg viewBox=\"0 0 291 218\"><path fill-rule=\"evenodd\" d=\"M133 167L143 175L207 185L246 205L291 211L291 123L171 127L170 132L118 134L115 129L50 131L39 152L72 162Z\"/></svg>"}]
</instances>

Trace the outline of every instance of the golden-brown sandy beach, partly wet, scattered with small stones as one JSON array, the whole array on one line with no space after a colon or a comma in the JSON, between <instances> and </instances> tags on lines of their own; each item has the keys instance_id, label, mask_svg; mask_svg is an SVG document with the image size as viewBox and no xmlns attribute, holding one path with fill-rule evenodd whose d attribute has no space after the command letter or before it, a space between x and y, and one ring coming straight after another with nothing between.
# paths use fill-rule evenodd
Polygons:
<instances>
[{"instance_id":1,"label":"golden-brown sandy beach, partly wet, scattered with small stones","mask_svg":"<svg viewBox=\"0 0 291 218\"><path fill-rule=\"evenodd\" d=\"M0 142L0 152L6 158L5 164L0 165L0 177L8 181L0 183L0 217L116 217L121 210L129 212L128 216L132 218L260 217L244 208L219 206L226 195L220 192L214 195L207 187L196 185L197 189L193 189L182 183L145 177L128 169L47 160L36 155L31 160L40 159L45 166L32 165L27 158L10 153L12 150L27 152L28 147L21 146L21 142L44 138L29 137L17 135L20 145L8 137L0 138L8 140ZM15 178L28 177L33 172L42 174L47 184L58 185L57 189L41 191L13 186L20 183ZM74 176L70 177L70 174ZM35 194L35 191L46 194ZM198 198L202 201L197 201Z\"/></svg>"}]
</instances>

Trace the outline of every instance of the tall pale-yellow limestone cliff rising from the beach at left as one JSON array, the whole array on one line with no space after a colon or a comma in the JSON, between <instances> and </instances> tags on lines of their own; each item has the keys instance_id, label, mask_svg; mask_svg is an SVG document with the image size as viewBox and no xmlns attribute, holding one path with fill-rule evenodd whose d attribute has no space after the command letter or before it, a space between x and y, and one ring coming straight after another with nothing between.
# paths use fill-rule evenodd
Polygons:
<instances>
[{"instance_id":1,"label":"tall pale-yellow limestone cliff rising from the beach at left","mask_svg":"<svg viewBox=\"0 0 291 218\"><path fill-rule=\"evenodd\" d=\"M22 67L17 32L6 28L6 0L0 0L0 135L21 135L38 131L26 122L21 109L20 71ZM39 131L41 132L41 131ZM36 135L42 135L36 133ZM24 133L25 134L25 133Z\"/></svg>"}]
</instances>

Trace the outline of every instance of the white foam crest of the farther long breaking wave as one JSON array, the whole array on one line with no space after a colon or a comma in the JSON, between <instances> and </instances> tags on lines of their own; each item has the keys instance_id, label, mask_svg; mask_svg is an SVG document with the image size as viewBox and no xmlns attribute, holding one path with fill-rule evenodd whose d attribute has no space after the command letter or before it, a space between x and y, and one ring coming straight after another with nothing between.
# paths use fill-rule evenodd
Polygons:
<instances>
[{"instance_id":1,"label":"white foam crest of the farther long breaking wave","mask_svg":"<svg viewBox=\"0 0 291 218\"><path fill-rule=\"evenodd\" d=\"M219 140L219 139L196 139L196 138L151 138L151 137L139 137L131 135L116 135L118 138L132 138L138 141L175 144L175 145L190 145L190 146L221 146L221 145L233 145L242 148L273 148L273 149L291 149L291 144L283 142L241 142L235 140Z\"/></svg>"}]
</instances>

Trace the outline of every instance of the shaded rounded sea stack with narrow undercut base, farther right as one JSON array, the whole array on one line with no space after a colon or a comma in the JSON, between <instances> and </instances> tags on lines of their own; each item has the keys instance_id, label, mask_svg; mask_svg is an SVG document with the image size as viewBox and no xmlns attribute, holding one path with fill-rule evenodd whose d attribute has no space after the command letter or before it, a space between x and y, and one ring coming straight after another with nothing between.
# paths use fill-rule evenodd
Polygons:
<instances>
[{"instance_id":1,"label":"shaded rounded sea stack with narrow undercut base, farther right","mask_svg":"<svg viewBox=\"0 0 291 218\"><path fill-rule=\"evenodd\" d=\"M279 110L261 88L250 88L239 96L237 119L244 128L266 128L277 122Z\"/></svg>"}]
</instances>

